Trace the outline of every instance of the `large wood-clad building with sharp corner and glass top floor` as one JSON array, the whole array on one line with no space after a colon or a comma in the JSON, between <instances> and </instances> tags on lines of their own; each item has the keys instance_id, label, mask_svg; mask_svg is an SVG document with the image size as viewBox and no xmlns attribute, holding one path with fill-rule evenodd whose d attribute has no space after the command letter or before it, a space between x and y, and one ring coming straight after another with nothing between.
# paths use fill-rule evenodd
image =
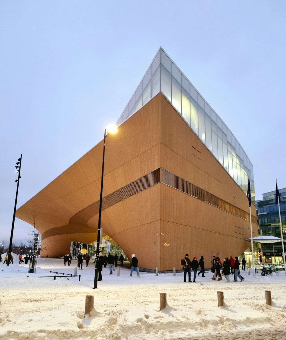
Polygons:
<instances>
[{"instance_id":1,"label":"large wood-clad building with sharp corner and glass top floor","mask_svg":"<svg viewBox=\"0 0 286 340\"><path fill-rule=\"evenodd\" d=\"M103 141L27 203L41 255L97 239ZM101 227L140 268L181 269L180 259L239 256L250 237L253 168L226 124L160 48L105 142ZM257 236L252 206L253 236Z\"/></svg>"}]
</instances>

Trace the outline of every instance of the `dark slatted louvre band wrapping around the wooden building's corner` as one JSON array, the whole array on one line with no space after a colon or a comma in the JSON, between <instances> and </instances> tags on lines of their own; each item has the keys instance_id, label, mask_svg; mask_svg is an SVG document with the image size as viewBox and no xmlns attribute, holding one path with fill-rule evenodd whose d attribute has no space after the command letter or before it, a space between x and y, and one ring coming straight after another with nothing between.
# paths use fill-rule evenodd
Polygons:
<instances>
[{"instance_id":1,"label":"dark slatted louvre band wrapping around the wooden building's corner","mask_svg":"<svg viewBox=\"0 0 286 340\"><path fill-rule=\"evenodd\" d=\"M210 192L205 191L190 182L187 182L181 177L178 177L163 168L158 168L147 175L140 177L138 180L135 180L134 182L127 184L126 186L105 196L102 199L102 209L106 209L120 201L125 200L126 198L136 195L137 193L146 190L157 183L166 184L201 201L231 212L231 214L242 217L245 220L249 220L249 214L244 210L216 197ZM98 214L99 201L94 202L92 205L95 208L95 214Z\"/></svg>"}]
</instances>

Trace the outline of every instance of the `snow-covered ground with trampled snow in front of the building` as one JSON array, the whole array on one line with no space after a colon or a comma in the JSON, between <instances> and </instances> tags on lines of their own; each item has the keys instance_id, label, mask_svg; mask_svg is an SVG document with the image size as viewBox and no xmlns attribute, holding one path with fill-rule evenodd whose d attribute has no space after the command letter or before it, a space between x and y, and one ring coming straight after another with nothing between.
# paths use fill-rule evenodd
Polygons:
<instances>
[{"instance_id":1,"label":"snow-covered ground with trampled snow in front of the building","mask_svg":"<svg viewBox=\"0 0 286 340\"><path fill-rule=\"evenodd\" d=\"M93 289L94 264L77 270L76 261L64 267L62 259L37 259L36 273L29 265L0 265L0 339L48 340L285 340L286 277L284 271L253 278L242 272L244 282L226 283L197 276L184 283L183 274L134 272L121 268ZM140 264L140 259L139 259ZM193 280L193 274L192 274ZM270 290L273 306L265 303ZM217 291L224 292L225 307L217 307ZM160 293L167 293L167 307L159 310ZM94 296L95 313L84 318L85 297Z\"/></svg>"}]
</instances>

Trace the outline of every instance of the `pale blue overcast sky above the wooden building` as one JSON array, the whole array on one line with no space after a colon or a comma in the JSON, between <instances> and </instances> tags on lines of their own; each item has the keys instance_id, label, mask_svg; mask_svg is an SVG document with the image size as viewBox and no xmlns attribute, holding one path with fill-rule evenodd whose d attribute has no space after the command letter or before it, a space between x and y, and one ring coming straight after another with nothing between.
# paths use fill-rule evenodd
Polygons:
<instances>
[{"instance_id":1,"label":"pale blue overcast sky above the wooden building","mask_svg":"<svg viewBox=\"0 0 286 340\"><path fill-rule=\"evenodd\" d=\"M285 17L285 1L0 0L0 242L20 154L17 208L103 139L160 46L239 140L256 199L286 187Z\"/></svg>"}]
</instances>

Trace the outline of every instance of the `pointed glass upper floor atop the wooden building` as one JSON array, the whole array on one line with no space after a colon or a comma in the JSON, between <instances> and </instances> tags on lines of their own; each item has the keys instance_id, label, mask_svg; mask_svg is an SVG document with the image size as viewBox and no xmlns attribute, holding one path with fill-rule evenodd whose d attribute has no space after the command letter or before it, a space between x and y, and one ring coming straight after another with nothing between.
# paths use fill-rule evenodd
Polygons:
<instances>
[{"instance_id":1,"label":"pointed glass upper floor atop the wooden building","mask_svg":"<svg viewBox=\"0 0 286 340\"><path fill-rule=\"evenodd\" d=\"M253 166L240 143L161 47L124 108L117 125L132 116L159 92L245 193L249 174L251 195L255 196Z\"/></svg>"}]
</instances>

